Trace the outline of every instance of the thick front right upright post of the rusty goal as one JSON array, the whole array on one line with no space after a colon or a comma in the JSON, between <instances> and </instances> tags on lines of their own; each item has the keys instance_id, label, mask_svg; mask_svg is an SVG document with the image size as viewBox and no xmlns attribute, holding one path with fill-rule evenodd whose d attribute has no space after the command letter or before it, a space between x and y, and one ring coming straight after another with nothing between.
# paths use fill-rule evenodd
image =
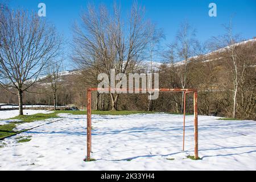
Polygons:
<instances>
[{"instance_id":1,"label":"thick front right upright post of the rusty goal","mask_svg":"<svg viewBox=\"0 0 256 182\"><path fill-rule=\"evenodd\" d=\"M194 135L195 135L195 159L198 159L198 115L197 115L197 92L194 92Z\"/></svg>"}]
</instances>

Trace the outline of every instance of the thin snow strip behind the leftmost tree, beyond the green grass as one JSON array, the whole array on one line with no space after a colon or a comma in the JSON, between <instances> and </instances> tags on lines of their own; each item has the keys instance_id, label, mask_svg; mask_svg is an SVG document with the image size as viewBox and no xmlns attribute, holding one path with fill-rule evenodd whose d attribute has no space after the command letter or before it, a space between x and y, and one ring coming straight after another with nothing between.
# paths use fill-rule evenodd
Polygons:
<instances>
[{"instance_id":1,"label":"thin snow strip behind the leftmost tree, beyond the green grass","mask_svg":"<svg viewBox=\"0 0 256 182\"><path fill-rule=\"evenodd\" d=\"M32 115L38 113L52 113L52 111L48 110L23 110L24 115ZM13 118L19 115L19 110L0 110L0 119L8 119ZM0 121L0 125L6 121ZM8 122L8 121L7 121ZM10 121L9 121L10 122Z\"/></svg>"}]
</instances>

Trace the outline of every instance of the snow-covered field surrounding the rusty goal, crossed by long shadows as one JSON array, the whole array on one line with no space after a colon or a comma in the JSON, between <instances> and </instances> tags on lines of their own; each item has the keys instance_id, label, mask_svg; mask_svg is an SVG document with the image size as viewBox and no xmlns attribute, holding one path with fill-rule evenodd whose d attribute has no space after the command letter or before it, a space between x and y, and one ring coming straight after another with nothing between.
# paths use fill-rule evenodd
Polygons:
<instances>
[{"instance_id":1,"label":"snow-covered field surrounding the rusty goal, crossed by long shadows","mask_svg":"<svg viewBox=\"0 0 256 182\"><path fill-rule=\"evenodd\" d=\"M181 151L182 115L93 115L91 157L96 161L84 162L86 116L61 114L61 117L62 121L16 136L32 136L30 142L16 143L16 137L3 141L6 145L0 148L0 169L256 169L255 121L219 121L217 117L200 115L199 156L202 160L191 160L186 156L193 155L192 115L187 117L185 151ZM26 123L22 125L26 127Z\"/></svg>"}]
</instances>

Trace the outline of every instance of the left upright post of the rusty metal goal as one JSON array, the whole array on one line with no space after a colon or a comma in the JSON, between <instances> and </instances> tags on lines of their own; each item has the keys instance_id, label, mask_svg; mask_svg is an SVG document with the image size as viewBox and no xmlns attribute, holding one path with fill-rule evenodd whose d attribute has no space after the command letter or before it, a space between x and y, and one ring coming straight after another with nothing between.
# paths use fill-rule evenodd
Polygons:
<instances>
[{"instance_id":1,"label":"left upright post of the rusty metal goal","mask_svg":"<svg viewBox=\"0 0 256 182\"><path fill-rule=\"evenodd\" d=\"M92 92L90 89L87 90L87 161L90 161L90 151L91 151L91 100Z\"/></svg>"}]
</instances>

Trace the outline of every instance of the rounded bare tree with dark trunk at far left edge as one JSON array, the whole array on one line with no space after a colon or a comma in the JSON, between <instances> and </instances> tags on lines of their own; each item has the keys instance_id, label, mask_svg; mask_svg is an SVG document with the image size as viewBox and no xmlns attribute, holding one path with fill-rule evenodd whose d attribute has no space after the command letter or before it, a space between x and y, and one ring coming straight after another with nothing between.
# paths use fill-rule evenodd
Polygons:
<instances>
[{"instance_id":1,"label":"rounded bare tree with dark trunk at far left edge","mask_svg":"<svg viewBox=\"0 0 256 182\"><path fill-rule=\"evenodd\" d=\"M0 85L18 92L23 115L23 92L38 81L48 61L58 55L55 28L34 13L12 10L1 14Z\"/></svg>"}]
</instances>

